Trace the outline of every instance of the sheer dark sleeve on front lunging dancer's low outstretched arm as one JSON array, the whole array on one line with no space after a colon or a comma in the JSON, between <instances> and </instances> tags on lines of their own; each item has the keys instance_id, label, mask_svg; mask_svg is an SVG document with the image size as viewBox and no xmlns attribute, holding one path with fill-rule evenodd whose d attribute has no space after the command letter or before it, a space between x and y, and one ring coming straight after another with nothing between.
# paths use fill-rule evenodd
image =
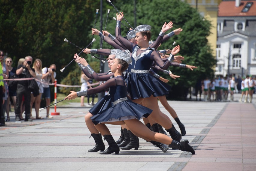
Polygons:
<instances>
[{"instance_id":1,"label":"sheer dark sleeve on front lunging dancer's low outstretched arm","mask_svg":"<svg viewBox=\"0 0 256 171\"><path fill-rule=\"evenodd\" d=\"M108 79L105 83L98 85L97 87L87 89L87 95L93 95L96 93L108 91L110 87L116 85L115 78Z\"/></svg>"}]
</instances>

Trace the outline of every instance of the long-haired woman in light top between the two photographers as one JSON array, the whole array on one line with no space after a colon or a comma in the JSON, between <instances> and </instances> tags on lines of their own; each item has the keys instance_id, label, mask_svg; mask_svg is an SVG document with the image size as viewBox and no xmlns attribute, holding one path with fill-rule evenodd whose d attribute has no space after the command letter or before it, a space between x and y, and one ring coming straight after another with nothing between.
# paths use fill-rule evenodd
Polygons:
<instances>
[{"instance_id":1,"label":"long-haired woman in light top between the two photographers","mask_svg":"<svg viewBox=\"0 0 256 171\"><path fill-rule=\"evenodd\" d=\"M41 59L35 59L35 62L33 64L33 68L35 69L35 78L38 80L42 79L42 61ZM36 81L38 88L39 88L39 95L34 97L33 94L31 94L31 103L30 103L30 118L32 117L32 106L33 103L35 102L35 115L36 115L36 119L42 119L42 116L39 115L39 108L40 108L40 104L41 104L41 96L42 93L44 92L44 88L43 85L40 81ZM31 118L33 119L33 118Z\"/></svg>"}]
</instances>

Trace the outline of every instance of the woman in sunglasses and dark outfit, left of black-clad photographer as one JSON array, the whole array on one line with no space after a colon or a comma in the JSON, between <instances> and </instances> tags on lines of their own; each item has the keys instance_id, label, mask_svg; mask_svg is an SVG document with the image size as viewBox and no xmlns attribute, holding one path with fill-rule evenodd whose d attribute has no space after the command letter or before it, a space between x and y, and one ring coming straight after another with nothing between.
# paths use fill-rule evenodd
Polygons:
<instances>
[{"instance_id":1,"label":"woman in sunglasses and dark outfit, left of black-clad photographer","mask_svg":"<svg viewBox=\"0 0 256 171\"><path fill-rule=\"evenodd\" d=\"M16 68L12 67L12 58L7 57L5 58L5 66L8 68L9 71L9 77L11 78L11 76L14 76L14 74L16 73ZM6 122L10 121L10 116L9 116L9 112L10 112L10 97L12 98L12 102L13 105L16 105L16 89L14 89L12 86L8 86L8 91L9 91L9 95L7 98L7 108L6 108L6 114L7 114L7 119Z\"/></svg>"}]
</instances>

